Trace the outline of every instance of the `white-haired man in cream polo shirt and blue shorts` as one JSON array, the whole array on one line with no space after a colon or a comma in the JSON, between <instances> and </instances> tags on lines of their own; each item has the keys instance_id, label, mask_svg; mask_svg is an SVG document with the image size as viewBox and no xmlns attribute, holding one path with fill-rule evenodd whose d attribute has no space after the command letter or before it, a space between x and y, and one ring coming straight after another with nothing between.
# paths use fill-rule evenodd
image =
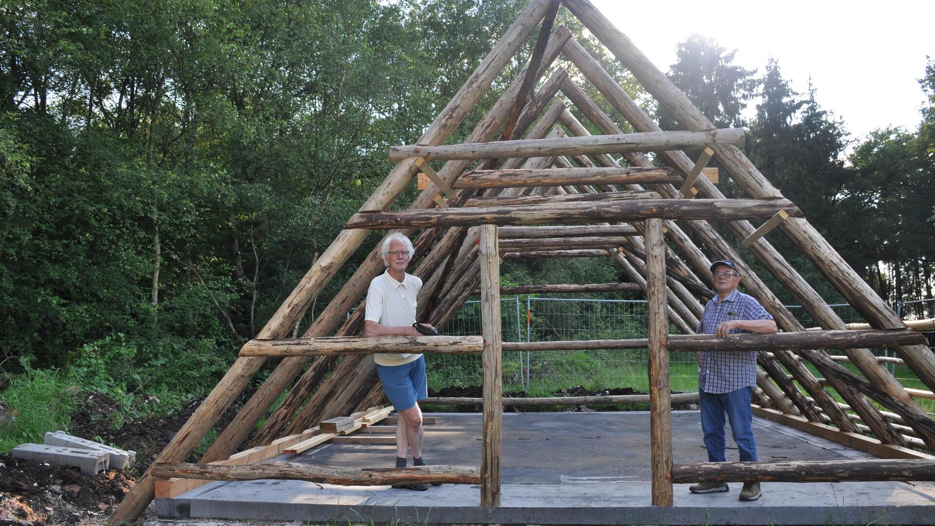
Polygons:
<instances>
[{"instance_id":1,"label":"white-haired man in cream polo shirt and blue shorts","mask_svg":"<svg viewBox=\"0 0 935 526\"><path fill-rule=\"evenodd\" d=\"M403 234L391 234L383 240L381 256L386 271L373 278L367 289L367 336L418 336L415 328L416 297L422 280L406 273L415 254L412 241ZM422 324L431 328L428 324ZM434 328L433 328L434 329ZM422 410L419 400L428 397L425 358L421 354L399 353L373 355L386 398L396 408L396 467L406 467L409 451L412 465L424 466L422 458ZM394 488L428 489L425 484L395 485Z\"/></svg>"}]
</instances>

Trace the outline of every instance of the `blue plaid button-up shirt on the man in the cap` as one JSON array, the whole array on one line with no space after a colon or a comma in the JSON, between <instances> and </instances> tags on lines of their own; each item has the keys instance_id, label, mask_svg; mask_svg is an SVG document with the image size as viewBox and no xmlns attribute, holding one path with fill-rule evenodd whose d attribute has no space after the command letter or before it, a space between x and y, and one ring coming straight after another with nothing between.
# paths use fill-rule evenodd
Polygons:
<instances>
[{"instance_id":1,"label":"blue plaid button-up shirt on the man in the cap","mask_svg":"<svg viewBox=\"0 0 935 526\"><path fill-rule=\"evenodd\" d=\"M715 296L704 306L698 333L713 334L721 322L728 320L773 319L752 296L734 290L726 300ZM749 332L733 329L731 334ZM756 387L756 353L734 351L701 351L698 388L706 393L722 394L741 387Z\"/></svg>"}]
</instances>

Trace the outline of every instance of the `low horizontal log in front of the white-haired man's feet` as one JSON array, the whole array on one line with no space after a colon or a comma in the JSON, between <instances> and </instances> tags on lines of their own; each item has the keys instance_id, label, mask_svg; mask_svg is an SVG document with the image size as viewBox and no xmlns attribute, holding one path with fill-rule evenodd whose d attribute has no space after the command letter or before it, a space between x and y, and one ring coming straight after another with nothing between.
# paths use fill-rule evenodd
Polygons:
<instances>
[{"instance_id":1,"label":"low horizontal log in front of the white-haired man's feet","mask_svg":"<svg viewBox=\"0 0 935 526\"><path fill-rule=\"evenodd\" d=\"M391 484L480 484L481 470L468 466L418 466L409 468L338 468L292 462L266 462L246 466L222 466L187 462L152 464L158 478L201 480L305 480L340 486L389 486Z\"/></svg>"}]
</instances>

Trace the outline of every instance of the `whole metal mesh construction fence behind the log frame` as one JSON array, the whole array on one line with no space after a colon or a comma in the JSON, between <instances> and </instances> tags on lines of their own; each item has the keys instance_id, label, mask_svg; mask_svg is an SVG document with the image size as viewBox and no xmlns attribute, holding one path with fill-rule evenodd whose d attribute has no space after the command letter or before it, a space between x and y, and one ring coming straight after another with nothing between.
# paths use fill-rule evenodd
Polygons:
<instances>
[{"instance_id":1,"label":"whole metal mesh construction fence behind the log frame","mask_svg":"<svg viewBox=\"0 0 935 526\"><path fill-rule=\"evenodd\" d=\"M830 307L845 323L864 323L854 307ZM817 327L799 305L787 305L805 327ZM900 302L897 312L905 319L935 317L935 299ZM504 342L544 342L570 340L626 340L646 338L646 300L595 300L511 296L500 299L502 340ZM480 301L465 303L443 334L480 335ZM675 332L675 329L671 329ZM930 346L935 331L923 332ZM895 356L888 349L872 349L878 356ZM611 387L648 388L645 349L599 349L588 351L507 352L503 355L503 383L508 389L551 392L559 388L583 386L589 389ZM833 352L832 354L840 354ZM470 387L481 385L479 355L426 355L429 385ZM926 388L909 368L886 364L905 387ZM694 353L672 353L669 357L672 388L698 388Z\"/></svg>"}]
</instances>

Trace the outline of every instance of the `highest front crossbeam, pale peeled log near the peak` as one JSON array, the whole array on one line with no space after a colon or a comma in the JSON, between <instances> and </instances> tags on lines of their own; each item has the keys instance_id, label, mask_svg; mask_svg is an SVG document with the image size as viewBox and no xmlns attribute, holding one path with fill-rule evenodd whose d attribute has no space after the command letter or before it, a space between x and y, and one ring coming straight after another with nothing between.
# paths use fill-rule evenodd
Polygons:
<instances>
[{"instance_id":1,"label":"highest front crossbeam, pale peeled log near the peak","mask_svg":"<svg viewBox=\"0 0 935 526\"><path fill-rule=\"evenodd\" d=\"M521 139L497 142L468 142L424 146L407 144L391 146L390 160L399 162L410 157L426 160L487 159L490 157L552 157L590 153L661 152L686 150L721 143L742 146L743 128L726 128L700 132L670 131L631 133L623 135L592 135L562 139Z\"/></svg>"}]
</instances>

